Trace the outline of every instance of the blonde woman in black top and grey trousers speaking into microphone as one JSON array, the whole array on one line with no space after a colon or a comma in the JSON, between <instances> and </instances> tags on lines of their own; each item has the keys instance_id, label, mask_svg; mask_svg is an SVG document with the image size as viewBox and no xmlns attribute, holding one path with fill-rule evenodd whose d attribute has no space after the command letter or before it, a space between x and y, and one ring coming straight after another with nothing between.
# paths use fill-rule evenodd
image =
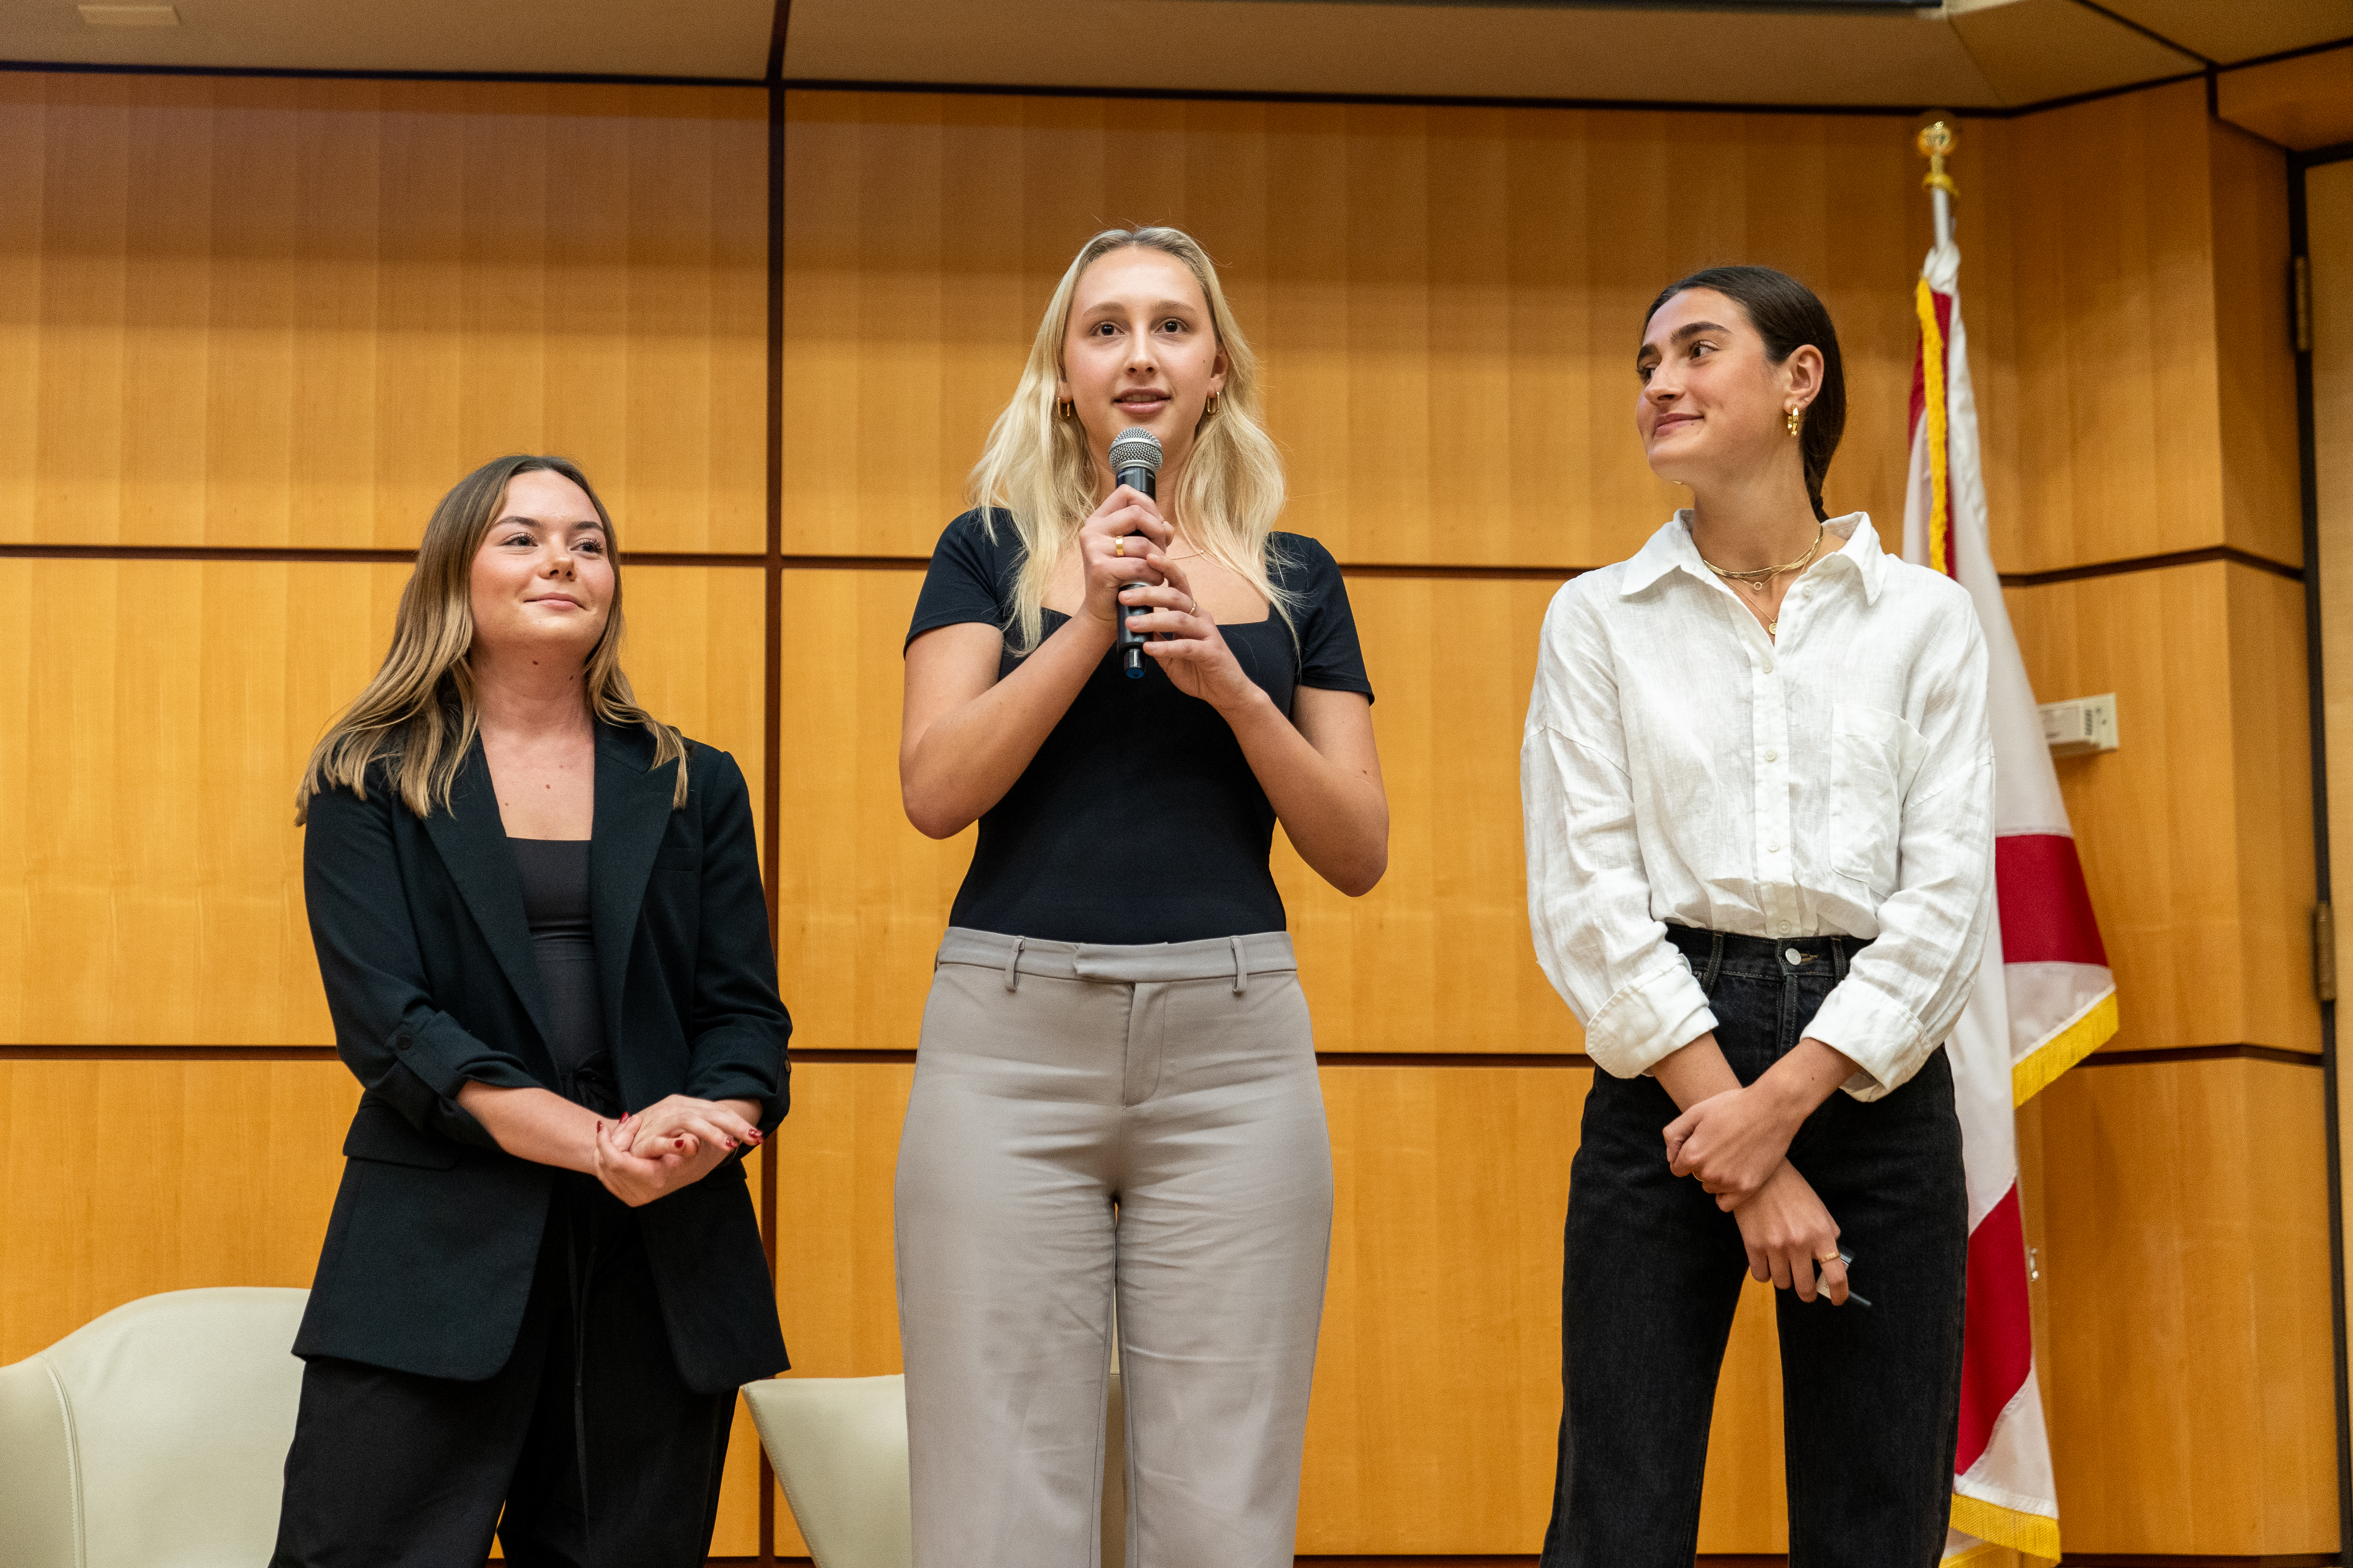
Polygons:
<instances>
[{"instance_id":1,"label":"blonde woman in black top and grey trousers speaking into microphone","mask_svg":"<svg viewBox=\"0 0 2353 1568\"><path fill-rule=\"evenodd\" d=\"M1151 430L1151 501L1108 449ZM918 1568L1087 1568L1118 1302L1127 1561L1292 1561L1332 1227L1280 820L1388 865L1372 686L1217 270L1172 228L1064 273L906 644L899 780L979 823L899 1143ZM1151 632L1144 679L1113 651Z\"/></svg>"}]
</instances>

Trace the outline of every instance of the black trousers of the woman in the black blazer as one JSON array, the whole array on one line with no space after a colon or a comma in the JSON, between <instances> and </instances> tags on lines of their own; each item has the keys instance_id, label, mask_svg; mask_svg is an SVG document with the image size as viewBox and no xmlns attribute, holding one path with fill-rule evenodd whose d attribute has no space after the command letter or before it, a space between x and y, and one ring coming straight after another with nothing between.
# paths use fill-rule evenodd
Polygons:
<instances>
[{"instance_id":1,"label":"black trousers of the woman in the black blazer","mask_svg":"<svg viewBox=\"0 0 2353 1568\"><path fill-rule=\"evenodd\" d=\"M515 1568L701 1568L732 1425L678 1375L635 1215L565 1173L496 1375L304 1368L271 1568L480 1568L492 1530Z\"/></svg>"}]
</instances>

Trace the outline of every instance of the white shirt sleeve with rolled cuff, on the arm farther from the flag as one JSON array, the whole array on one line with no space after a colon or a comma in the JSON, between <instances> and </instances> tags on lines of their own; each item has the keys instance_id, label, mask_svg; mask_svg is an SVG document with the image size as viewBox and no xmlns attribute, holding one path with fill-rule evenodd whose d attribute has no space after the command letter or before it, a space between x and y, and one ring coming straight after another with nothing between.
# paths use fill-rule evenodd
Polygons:
<instances>
[{"instance_id":1,"label":"white shirt sleeve with rolled cuff, on the arm farther from the flag","mask_svg":"<svg viewBox=\"0 0 2353 1568\"><path fill-rule=\"evenodd\" d=\"M1572 583L1553 599L1520 738L1527 924L1586 1053L1631 1079L1715 1027L1649 912L1609 649Z\"/></svg>"}]
</instances>

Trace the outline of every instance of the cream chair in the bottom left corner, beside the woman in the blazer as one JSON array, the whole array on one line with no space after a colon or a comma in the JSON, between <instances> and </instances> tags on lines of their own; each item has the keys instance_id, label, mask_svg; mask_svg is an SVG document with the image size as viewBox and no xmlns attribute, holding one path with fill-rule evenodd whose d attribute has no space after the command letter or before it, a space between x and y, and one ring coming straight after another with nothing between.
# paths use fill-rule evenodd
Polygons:
<instances>
[{"instance_id":1,"label":"cream chair in the bottom left corner, beside the woman in the blazer","mask_svg":"<svg viewBox=\"0 0 2353 1568\"><path fill-rule=\"evenodd\" d=\"M308 1291L169 1291L0 1366L0 1568L259 1568Z\"/></svg>"}]
</instances>

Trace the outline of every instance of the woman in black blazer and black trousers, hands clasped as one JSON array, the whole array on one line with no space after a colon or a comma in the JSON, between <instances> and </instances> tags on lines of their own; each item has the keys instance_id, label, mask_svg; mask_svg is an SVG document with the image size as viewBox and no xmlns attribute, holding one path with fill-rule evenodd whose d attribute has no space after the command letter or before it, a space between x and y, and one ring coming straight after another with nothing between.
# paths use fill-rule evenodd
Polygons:
<instances>
[{"instance_id":1,"label":"woman in black blazer and black trousers, hands clasped","mask_svg":"<svg viewBox=\"0 0 2353 1568\"><path fill-rule=\"evenodd\" d=\"M786 1363L741 1166L793 1027L751 797L619 646L588 480L487 463L304 773L365 1093L273 1568L480 1563L494 1528L518 1566L701 1563L736 1385Z\"/></svg>"}]
</instances>

